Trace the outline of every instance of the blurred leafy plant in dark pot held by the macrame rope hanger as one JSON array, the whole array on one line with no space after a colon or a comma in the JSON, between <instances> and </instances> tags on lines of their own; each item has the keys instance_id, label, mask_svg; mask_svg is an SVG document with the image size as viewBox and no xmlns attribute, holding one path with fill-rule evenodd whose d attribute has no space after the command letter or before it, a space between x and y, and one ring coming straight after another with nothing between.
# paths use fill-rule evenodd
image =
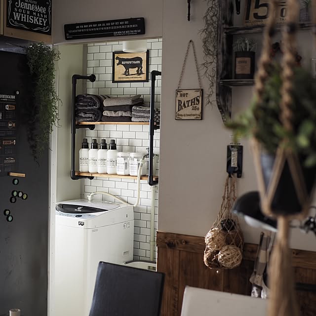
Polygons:
<instances>
[{"instance_id":1,"label":"blurred leafy plant in dark pot held by the macrame rope hanger","mask_svg":"<svg viewBox=\"0 0 316 316\"><path fill-rule=\"evenodd\" d=\"M280 119L282 79L278 64L270 68L261 101L254 98L250 108L227 123L236 136L254 139L259 187L270 197L267 205L263 199L262 207L271 207L279 214L296 214L307 207L304 197L311 194L316 175L316 80L301 67L293 71L291 130ZM285 149L296 158L279 158L277 153ZM297 172L297 166L302 172Z\"/></svg>"}]
</instances>

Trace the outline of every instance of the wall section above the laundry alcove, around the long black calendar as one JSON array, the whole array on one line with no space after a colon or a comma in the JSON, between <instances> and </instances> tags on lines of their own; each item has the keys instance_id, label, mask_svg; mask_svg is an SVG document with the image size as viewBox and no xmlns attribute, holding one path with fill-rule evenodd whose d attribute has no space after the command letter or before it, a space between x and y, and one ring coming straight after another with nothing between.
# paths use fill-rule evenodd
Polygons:
<instances>
[{"instance_id":1,"label":"wall section above the laundry alcove, around the long black calendar","mask_svg":"<svg viewBox=\"0 0 316 316\"><path fill-rule=\"evenodd\" d=\"M128 36L131 40L137 37L153 39L162 35L162 0L54 0L52 38L53 43L94 42L88 40L65 40L64 24L105 21L124 18L145 18L145 35ZM111 40L122 40L113 37ZM100 38L100 41L109 38Z\"/></svg>"}]
</instances>

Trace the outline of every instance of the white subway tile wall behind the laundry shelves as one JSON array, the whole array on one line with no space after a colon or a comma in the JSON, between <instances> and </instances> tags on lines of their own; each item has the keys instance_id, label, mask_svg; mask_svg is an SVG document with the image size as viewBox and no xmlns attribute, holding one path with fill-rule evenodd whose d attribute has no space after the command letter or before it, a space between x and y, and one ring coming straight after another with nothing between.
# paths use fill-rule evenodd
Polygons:
<instances>
[{"instance_id":1,"label":"white subway tile wall behind the laundry shelves","mask_svg":"<svg viewBox=\"0 0 316 316\"><path fill-rule=\"evenodd\" d=\"M161 71L162 40L147 40L149 50L149 74L152 70ZM87 82L87 93L106 94L113 97L141 94L144 102L150 103L150 81L135 83L112 82L112 53L122 50L122 42L105 42L88 44L87 75L95 74L95 82ZM155 107L160 107L161 80L156 80ZM100 143L102 138L110 142L115 139L118 151L146 152L149 147L149 125L96 125L95 130L86 130L86 138L91 143L92 138L97 138ZM159 130L155 132L154 153L159 154ZM156 174L159 171L159 161ZM84 198L90 192L105 191L123 198L128 203L134 204L137 197L137 181L133 179L96 177L93 180L82 180ZM111 200L107 196L96 195L96 199ZM151 225L151 187L147 181L141 180L140 203L134 209L134 260L150 259L150 225ZM155 189L155 240L158 223L158 188ZM155 260L157 252L155 248Z\"/></svg>"}]
</instances>

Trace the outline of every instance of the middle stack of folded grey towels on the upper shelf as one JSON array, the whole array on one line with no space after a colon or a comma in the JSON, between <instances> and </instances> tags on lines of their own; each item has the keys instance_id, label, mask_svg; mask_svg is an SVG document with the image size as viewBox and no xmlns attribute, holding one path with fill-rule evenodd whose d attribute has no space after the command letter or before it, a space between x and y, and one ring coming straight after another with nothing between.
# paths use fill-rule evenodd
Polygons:
<instances>
[{"instance_id":1,"label":"middle stack of folded grey towels on the upper shelf","mask_svg":"<svg viewBox=\"0 0 316 316\"><path fill-rule=\"evenodd\" d=\"M142 105L144 99L140 94L131 97L109 98L103 102L104 122L130 122L132 120L132 108Z\"/></svg>"}]
</instances>

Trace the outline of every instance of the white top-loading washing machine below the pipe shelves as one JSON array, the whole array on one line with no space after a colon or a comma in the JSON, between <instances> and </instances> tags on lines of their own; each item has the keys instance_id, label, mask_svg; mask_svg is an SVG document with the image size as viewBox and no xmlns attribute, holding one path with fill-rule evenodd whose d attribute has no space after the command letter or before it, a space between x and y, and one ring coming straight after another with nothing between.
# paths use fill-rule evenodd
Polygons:
<instances>
[{"instance_id":1,"label":"white top-loading washing machine below the pipe shelves","mask_svg":"<svg viewBox=\"0 0 316 316\"><path fill-rule=\"evenodd\" d=\"M132 205L69 200L56 205L56 316L88 316L100 261L133 259Z\"/></svg>"}]
</instances>

